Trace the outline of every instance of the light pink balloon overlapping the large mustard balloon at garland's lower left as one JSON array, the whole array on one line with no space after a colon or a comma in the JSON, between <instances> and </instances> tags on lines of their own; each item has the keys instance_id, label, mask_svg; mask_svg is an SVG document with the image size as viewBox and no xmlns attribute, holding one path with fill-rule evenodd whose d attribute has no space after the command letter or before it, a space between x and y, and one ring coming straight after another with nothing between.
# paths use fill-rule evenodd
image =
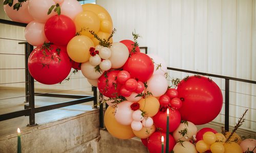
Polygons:
<instances>
[{"instance_id":1,"label":"light pink balloon overlapping the large mustard balloon at garland's lower left","mask_svg":"<svg viewBox=\"0 0 256 153\"><path fill-rule=\"evenodd\" d=\"M133 121L131 110L131 105L133 103L130 101L122 101L122 103L117 104L115 119L118 123L122 125L130 125Z\"/></svg>"}]
</instances>

